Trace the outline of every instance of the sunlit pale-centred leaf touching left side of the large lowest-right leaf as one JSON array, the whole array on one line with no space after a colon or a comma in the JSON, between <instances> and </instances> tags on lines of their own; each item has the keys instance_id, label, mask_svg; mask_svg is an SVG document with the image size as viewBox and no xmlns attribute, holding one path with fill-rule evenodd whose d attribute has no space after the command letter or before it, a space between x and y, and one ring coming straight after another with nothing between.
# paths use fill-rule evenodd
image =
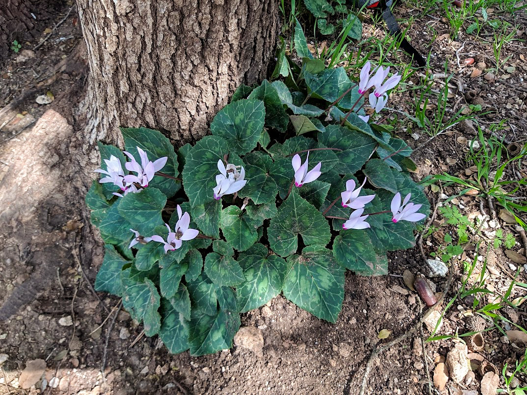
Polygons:
<instances>
[{"instance_id":1,"label":"sunlit pale-centred leaf touching left side of the large lowest-right leaf","mask_svg":"<svg viewBox=\"0 0 527 395\"><path fill-rule=\"evenodd\" d=\"M236 287L236 297L242 313L266 304L282 290L287 262L278 255L268 254L263 244L255 244L240 254L239 263L246 280Z\"/></svg>"}]
</instances>

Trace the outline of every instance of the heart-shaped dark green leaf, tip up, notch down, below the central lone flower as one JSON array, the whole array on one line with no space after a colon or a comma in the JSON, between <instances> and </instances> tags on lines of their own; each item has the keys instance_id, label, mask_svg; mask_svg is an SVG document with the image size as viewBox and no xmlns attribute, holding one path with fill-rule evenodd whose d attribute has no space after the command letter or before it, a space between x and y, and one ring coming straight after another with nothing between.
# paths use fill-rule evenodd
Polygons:
<instances>
[{"instance_id":1,"label":"heart-shaped dark green leaf, tip up, notch down, below the central lone flower","mask_svg":"<svg viewBox=\"0 0 527 395\"><path fill-rule=\"evenodd\" d=\"M325 246L331 237L324 216L292 190L278 209L277 216L271 219L267 236L271 249L278 255L287 256L297 251L299 235L305 245Z\"/></svg>"}]
</instances>

